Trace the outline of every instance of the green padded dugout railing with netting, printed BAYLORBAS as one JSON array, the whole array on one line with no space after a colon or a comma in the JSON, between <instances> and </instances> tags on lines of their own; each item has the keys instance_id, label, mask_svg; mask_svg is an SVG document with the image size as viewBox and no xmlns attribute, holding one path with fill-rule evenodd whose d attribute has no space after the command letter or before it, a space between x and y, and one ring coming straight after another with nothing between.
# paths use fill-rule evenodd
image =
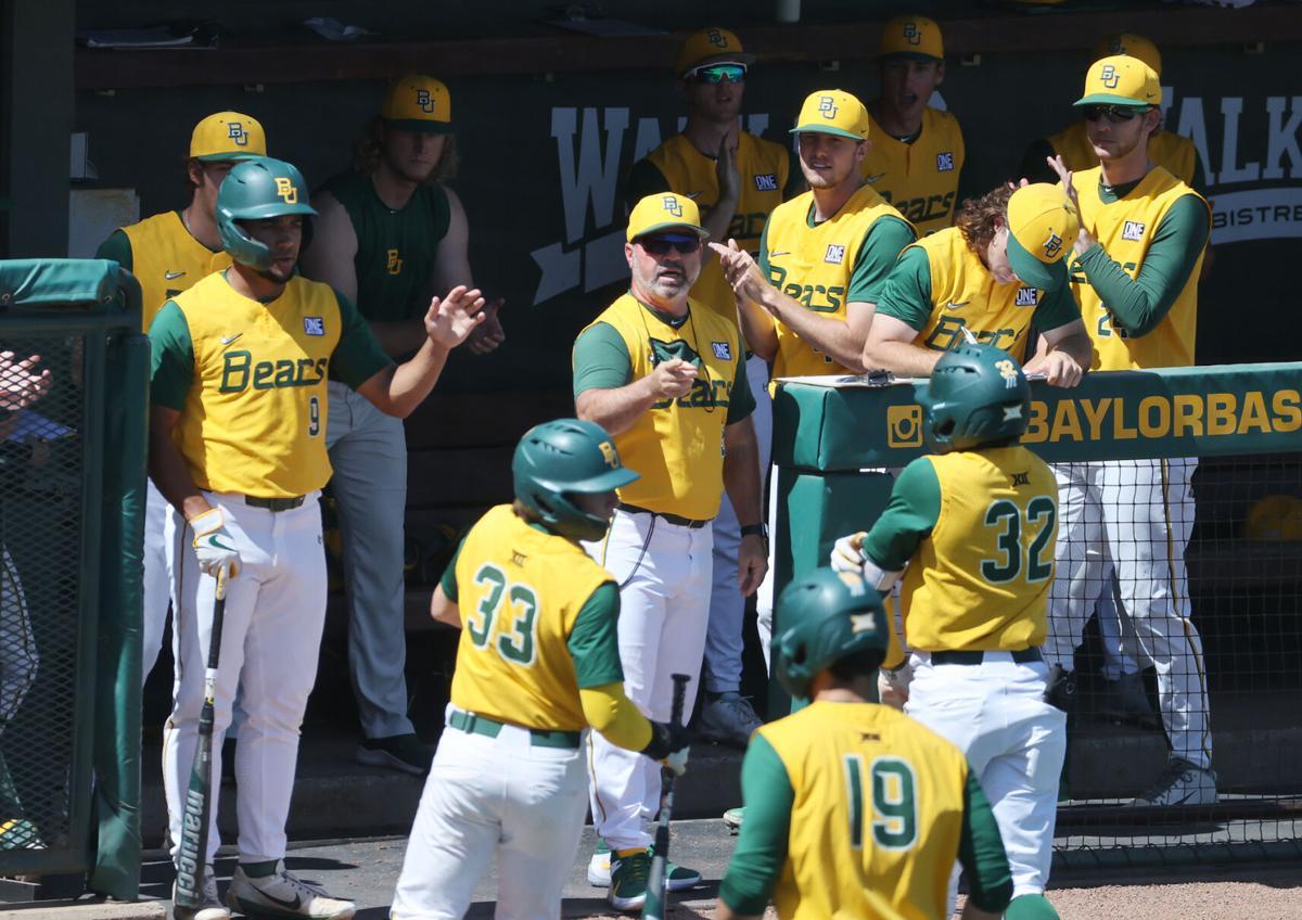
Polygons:
<instances>
[{"instance_id":1,"label":"green padded dugout railing with netting, printed BAYLORBAS","mask_svg":"<svg viewBox=\"0 0 1302 920\"><path fill-rule=\"evenodd\" d=\"M867 528L891 470L924 453L926 381L784 381L775 397L775 592ZM1129 804L1169 750L1151 714L1105 712L1098 618L1077 651L1070 795L1056 860L1154 863L1302 852L1302 364L1088 373L1032 381L1023 439L1051 463L1198 458L1186 550L1219 776L1215 805ZM776 596L776 595L775 595ZM1141 649L1142 652L1142 649ZM771 707L772 710L772 707Z\"/></svg>"}]
</instances>

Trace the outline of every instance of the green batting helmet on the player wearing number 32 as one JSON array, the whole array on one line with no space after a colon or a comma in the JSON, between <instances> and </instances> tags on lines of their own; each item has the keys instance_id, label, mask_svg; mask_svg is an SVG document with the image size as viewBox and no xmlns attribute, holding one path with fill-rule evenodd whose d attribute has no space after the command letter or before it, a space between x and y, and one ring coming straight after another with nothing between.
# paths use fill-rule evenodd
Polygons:
<instances>
[{"instance_id":1,"label":"green batting helmet on the player wearing number 32","mask_svg":"<svg viewBox=\"0 0 1302 920\"><path fill-rule=\"evenodd\" d=\"M1003 349L961 345L936 362L922 409L932 450L973 450L1022 436L1031 414L1031 386Z\"/></svg>"}]
</instances>

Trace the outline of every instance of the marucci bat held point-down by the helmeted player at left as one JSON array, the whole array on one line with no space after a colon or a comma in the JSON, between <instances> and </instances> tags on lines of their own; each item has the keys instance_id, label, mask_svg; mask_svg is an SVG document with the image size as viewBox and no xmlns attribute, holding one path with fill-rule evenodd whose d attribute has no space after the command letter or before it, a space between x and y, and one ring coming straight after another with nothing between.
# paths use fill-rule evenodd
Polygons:
<instances>
[{"instance_id":1,"label":"marucci bat held point-down by the helmeted player at left","mask_svg":"<svg viewBox=\"0 0 1302 920\"><path fill-rule=\"evenodd\" d=\"M212 636L208 639L208 666L203 671L203 709L199 713L199 743L190 766L190 787L185 792L181 817L181 846L176 859L176 903L198 908L203 902L203 873L208 855L208 813L212 808L212 708L217 691L217 665L221 661L221 623L227 613L227 580L217 575L212 601Z\"/></svg>"}]
</instances>

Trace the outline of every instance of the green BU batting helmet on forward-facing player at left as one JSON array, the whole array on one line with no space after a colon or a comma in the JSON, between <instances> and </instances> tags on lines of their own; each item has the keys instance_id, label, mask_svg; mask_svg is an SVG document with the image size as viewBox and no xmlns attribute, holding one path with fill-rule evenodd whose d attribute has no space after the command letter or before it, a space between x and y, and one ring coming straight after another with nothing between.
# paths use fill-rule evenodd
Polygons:
<instances>
[{"instance_id":1,"label":"green BU batting helmet on forward-facing player at left","mask_svg":"<svg viewBox=\"0 0 1302 920\"><path fill-rule=\"evenodd\" d=\"M271 268L271 250L240 226L241 220L264 220L289 213L315 215L307 203L307 182L292 163L255 156L227 173L217 191L217 232L221 249L236 262L259 272Z\"/></svg>"}]
</instances>

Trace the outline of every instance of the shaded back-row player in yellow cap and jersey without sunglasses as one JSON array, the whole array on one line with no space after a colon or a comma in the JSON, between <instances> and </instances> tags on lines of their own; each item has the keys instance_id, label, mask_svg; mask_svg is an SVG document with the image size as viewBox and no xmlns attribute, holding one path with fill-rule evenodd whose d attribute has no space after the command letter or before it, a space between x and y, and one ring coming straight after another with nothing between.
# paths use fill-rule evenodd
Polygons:
<instances>
[{"instance_id":1,"label":"shaded back-row player in yellow cap and jersey without sunglasses","mask_svg":"<svg viewBox=\"0 0 1302 920\"><path fill-rule=\"evenodd\" d=\"M953 223L967 157L958 118L928 103L945 78L940 26L897 16L881 26L881 95L868 103L871 142L863 177L918 233Z\"/></svg>"}]
</instances>

